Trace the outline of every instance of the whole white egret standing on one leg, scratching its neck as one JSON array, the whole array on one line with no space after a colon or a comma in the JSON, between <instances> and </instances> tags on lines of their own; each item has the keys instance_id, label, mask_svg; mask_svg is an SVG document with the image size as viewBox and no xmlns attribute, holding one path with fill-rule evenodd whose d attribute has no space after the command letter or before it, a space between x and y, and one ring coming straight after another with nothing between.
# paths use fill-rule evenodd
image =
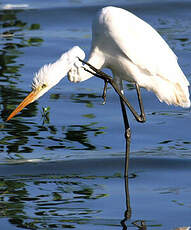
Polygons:
<instances>
[{"instance_id":1,"label":"whole white egret standing on one leg, scratching its neck","mask_svg":"<svg viewBox=\"0 0 191 230\"><path fill-rule=\"evenodd\" d=\"M153 91L160 101L169 105L190 107L189 82L178 65L176 55L155 29L124 9L108 6L97 13L92 25L91 52L85 65L82 63L84 58L83 50L73 47L55 63L42 67L33 79L32 92L7 121L56 85L67 73L72 82L81 82L96 75L112 83L120 95L128 163L130 128L124 105L123 80L135 83L141 115L127 100L125 103L140 122L145 121L145 115L139 87ZM112 71L113 80L100 71L102 68Z\"/></svg>"}]
</instances>

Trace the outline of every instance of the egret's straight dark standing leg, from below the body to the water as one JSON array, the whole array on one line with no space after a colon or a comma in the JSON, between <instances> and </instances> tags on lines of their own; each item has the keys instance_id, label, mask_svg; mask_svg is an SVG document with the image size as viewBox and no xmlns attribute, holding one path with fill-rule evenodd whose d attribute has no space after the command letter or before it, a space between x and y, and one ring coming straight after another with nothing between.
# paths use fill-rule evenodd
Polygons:
<instances>
[{"instance_id":1,"label":"egret's straight dark standing leg, from below the body to the water","mask_svg":"<svg viewBox=\"0 0 191 230\"><path fill-rule=\"evenodd\" d=\"M123 114L123 121L125 126L125 140L126 140L126 152L125 152L125 173L124 176L128 177L128 167L129 167L129 152L130 152L130 141L131 141L131 130L129 126L129 121L127 118L127 112L125 109L124 101L120 98L121 110Z\"/></svg>"}]
</instances>

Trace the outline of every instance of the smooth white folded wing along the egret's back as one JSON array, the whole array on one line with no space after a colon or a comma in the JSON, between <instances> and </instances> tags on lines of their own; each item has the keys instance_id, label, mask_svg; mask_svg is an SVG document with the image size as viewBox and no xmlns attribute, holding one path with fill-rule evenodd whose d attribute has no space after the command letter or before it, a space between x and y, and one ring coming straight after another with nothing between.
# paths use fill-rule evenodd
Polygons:
<instances>
[{"instance_id":1,"label":"smooth white folded wing along the egret's back","mask_svg":"<svg viewBox=\"0 0 191 230\"><path fill-rule=\"evenodd\" d=\"M116 17L107 17L108 33L123 55L151 75L189 85L176 55L156 30L125 10Z\"/></svg>"}]
</instances>

